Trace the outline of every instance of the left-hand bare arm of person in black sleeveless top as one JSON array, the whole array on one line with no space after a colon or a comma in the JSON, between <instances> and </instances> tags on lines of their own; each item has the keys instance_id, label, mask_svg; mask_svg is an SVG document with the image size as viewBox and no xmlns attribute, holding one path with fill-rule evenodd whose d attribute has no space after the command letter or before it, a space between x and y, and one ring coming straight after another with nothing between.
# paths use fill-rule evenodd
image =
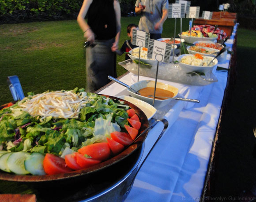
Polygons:
<instances>
[{"instance_id":1,"label":"left-hand bare arm of person in black sleeveless top","mask_svg":"<svg viewBox=\"0 0 256 202\"><path fill-rule=\"evenodd\" d=\"M79 14L77 16L77 22L78 22L80 28L83 30L83 33L84 33L83 37L87 38L87 40L90 41L90 43L93 43L94 42L94 33L90 29L90 26L87 24L87 22L84 19L91 3L92 3L92 0L84 0L83 1L83 5L82 5L82 7L79 11Z\"/></svg>"}]
</instances>

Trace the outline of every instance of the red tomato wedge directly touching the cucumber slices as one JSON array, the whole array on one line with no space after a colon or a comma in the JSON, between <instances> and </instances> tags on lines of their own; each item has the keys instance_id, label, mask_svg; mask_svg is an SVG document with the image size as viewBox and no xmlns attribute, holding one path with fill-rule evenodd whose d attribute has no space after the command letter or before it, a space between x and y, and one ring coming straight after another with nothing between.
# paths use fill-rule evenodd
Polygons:
<instances>
[{"instance_id":1,"label":"red tomato wedge directly touching the cucumber slices","mask_svg":"<svg viewBox=\"0 0 256 202\"><path fill-rule=\"evenodd\" d=\"M53 154L45 155L45 159L43 161L43 167L44 167L45 173L48 175L68 173L72 171L72 169L66 165L64 158L60 158Z\"/></svg>"}]
</instances>

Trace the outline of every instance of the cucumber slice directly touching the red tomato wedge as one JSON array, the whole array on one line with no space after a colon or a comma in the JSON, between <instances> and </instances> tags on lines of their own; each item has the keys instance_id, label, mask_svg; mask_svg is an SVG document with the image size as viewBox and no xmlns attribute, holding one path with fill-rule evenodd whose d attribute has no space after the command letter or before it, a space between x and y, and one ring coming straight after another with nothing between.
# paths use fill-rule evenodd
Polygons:
<instances>
[{"instance_id":1,"label":"cucumber slice directly touching the red tomato wedge","mask_svg":"<svg viewBox=\"0 0 256 202\"><path fill-rule=\"evenodd\" d=\"M43 161L45 156L41 153L34 152L26 158L24 164L25 169L33 175L46 175L43 168Z\"/></svg>"}]
</instances>

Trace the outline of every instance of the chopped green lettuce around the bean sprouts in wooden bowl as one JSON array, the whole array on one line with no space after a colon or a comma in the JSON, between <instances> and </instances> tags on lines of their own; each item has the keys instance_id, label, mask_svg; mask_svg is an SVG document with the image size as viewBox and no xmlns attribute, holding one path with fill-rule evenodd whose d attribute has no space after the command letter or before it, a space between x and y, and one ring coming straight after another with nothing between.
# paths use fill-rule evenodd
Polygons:
<instances>
[{"instance_id":1,"label":"chopped green lettuce around the bean sprouts in wooden bowl","mask_svg":"<svg viewBox=\"0 0 256 202\"><path fill-rule=\"evenodd\" d=\"M88 100L78 118L30 116L19 104L32 99L34 93L0 110L0 148L60 156L64 151L72 153L85 145L106 142L111 132L122 131L128 125L128 106L123 102L84 89L75 88L72 92Z\"/></svg>"}]
</instances>

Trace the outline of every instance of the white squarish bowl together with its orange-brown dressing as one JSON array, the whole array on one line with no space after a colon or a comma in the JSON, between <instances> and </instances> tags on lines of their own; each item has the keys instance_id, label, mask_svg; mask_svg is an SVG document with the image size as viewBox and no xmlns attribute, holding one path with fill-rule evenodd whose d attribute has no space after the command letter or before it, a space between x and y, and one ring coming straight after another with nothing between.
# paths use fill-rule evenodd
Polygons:
<instances>
[{"instance_id":1,"label":"white squarish bowl together with its orange-brown dressing","mask_svg":"<svg viewBox=\"0 0 256 202\"><path fill-rule=\"evenodd\" d=\"M141 95L138 95L128 89L128 92L130 93L130 95L132 95L132 97L143 100L144 102L149 103L153 106L155 81L143 80L132 84L130 87L141 93ZM162 82L157 82L154 107L156 109L164 107L172 100L172 98L177 96L178 92L179 88ZM169 98L163 99L159 98L158 96Z\"/></svg>"}]
</instances>

